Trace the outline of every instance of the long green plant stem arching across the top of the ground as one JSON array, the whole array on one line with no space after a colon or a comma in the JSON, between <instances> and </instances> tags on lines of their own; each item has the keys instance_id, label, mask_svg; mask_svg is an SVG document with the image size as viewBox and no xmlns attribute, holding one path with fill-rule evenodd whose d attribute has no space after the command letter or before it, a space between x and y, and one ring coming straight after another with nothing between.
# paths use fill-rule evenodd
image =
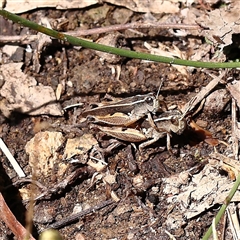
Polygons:
<instances>
[{"instance_id":1,"label":"long green plant stem arching across the top of the ground","mask_svg":"<svg viewBox=\"0 0 240 240\"><path fill-rule=\"evenodd\" d=\"M123 57L128 58L137 58L137 59L145 59L155 62L161 62L161 63L169 63L169 64L177 64L177 65L184 65L184 66L192 66L192 67L202 67L202 68L236 68L240 67L240 62L227 62L227 63L212 63L212 62L198 62L198 61L189 61L189 60L182 60L182 59L175 59L175 58L169 58L169 57L163 57L163 56L157 56L152 55L148 53L140 53L140 52L134 52L129 51L125 49L119 49L114 48L98 43L89 42L83 39L79 39L76 37L69 36L67 34L63 34L60 32L57 32L55 30L43 27L39 24L36 24L34 22L31 22L29 20L26 20L20 16L17 16L15 14L12 14L6 10L0 10L0 15L3 17L12 20L13 22L19 23L25 27L29 27L33 30L36 30L38 32L42 32L46 35L49 35L51 37L67 41L75 46L82 46L85 48L90 48L102 52L107 52L111 54L120 55Z\"/></svg>"}]
</instances>

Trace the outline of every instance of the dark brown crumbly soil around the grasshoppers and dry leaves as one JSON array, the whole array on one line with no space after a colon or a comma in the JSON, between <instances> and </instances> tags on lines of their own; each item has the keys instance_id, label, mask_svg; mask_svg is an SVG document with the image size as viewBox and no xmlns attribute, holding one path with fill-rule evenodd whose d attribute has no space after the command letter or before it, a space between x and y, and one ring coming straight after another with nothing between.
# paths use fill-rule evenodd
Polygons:
<instances>
[{"instance_id":1,"label":"dark brown crumbly soil around the grasshoppers and dry leaves","mask_svg":"<svg viewBox=\"0 0 240 240\"><path fill-rule=\"evenodd\" d=\"M107 5L104 5L105 7ZM103 6L95 6L94 10ZM37 21L42 14L52 19L65 16L69 22L60 26L60 30L72 31L79 26L79 22L87 28L100 27L106 24L116 24L122 14L126 14L128 21L136 21L143 18L143 14L134 13L124 8L107 6L108 13L104 17L94 18L87 10L57 11L37 10L24 16ZM119 11L121 14L119 14ZM154 15L160 19L160 15ZM8 25L8 35L17 35L24 29L16 24ZM11 28L11 29L9 29ZM166 30L142 30L144 37L129 30L122 31L126 48L146 51L143 42L148 41L157 45L161 41L171 47L173 44L188 54L188 37L185 38L185 46L182 41L171 36ZM102 35L91 36L93 40ZM201 40L195 39L197 44ZM192 40L191 40L192 41ZM26 47L26 45L22 45ZM6 61L10 61L5 56ZM106 204L105 207L79 217L71 223L65 223L59 227L59 232L64 239L170 239L170 232L176 239L200 239L212 223L219 206L202 212L197 217L182 221L175 225L167 222L169 213L178 209L174 202L169 204L164 194L162 179L183 171L193 169L193 173L200 172L208 156L213 152L213 146L206 143L190 127L182 135L172 134L172 152L166 149L166 138L147 147L143 153L138 150L139 144L120 141L116 148L109 149L114 138L90 129L88 125L78 127L82 122L81 112L91 107L91 104L104 101L108 93L115 98L126 98L136 94L156 93L163 81L161 98L167 106L176 105L181 108L203 86L206 86L212 78L209 70L194 69L188 75L182 75L176 68L168 64L140 61L136 59L119 59L118 63L102 61L95 51L75 48L67 43L56 40L53 44L44 48L41 53L41 68L39 73L34 69L34 63L23 52L24 65L22 70L29 76L34 76L38 84L51 86L56 91L59 83L64 83L60 103L63 107L81 103L79 107L69 108L62 117L46 115L29 116L19 112L13 112L10 118L1 117L1 137L9 147L24 172L31 179L34 172L29 166L29 156L25 152L27 142L40 131L61 132L65 139L81 137L91 133L97 139L99 147L104 155L107 167L97 171L87 164L89 151L82 155L76 155L72 163L63 158L63 143L57 149L58 159L66 165L66 170L59 175L59 166L55 166L50 177L38 176L40 182L48 192L36 201L34 206L33 236L38 238L39 233L47 229L51 224L72 215L77 209L85 210L95 207L112 199L116 194L120 201ZM117 66L120 67L120 77L117 79ZM114 71L115 72L114 72ZM218 75L217 71L211 73ZM237 72L229 71L224 77L236 76ZM224 88L220 85L218 88ZM193 117L195 121L202 121L204 128L210 131L214 138L228 141L231 134L231 114L229 102L220 111L213 108L201 110ZM71 127L70 127L71 126ZM219 152L224 151L222 145L217 146ZM33 192L35 196L44 192L43 188L33 187L29 182L18 183L18 177L1 152L1 191L4 198L17 219L25 226L25 215L29 209L29 202L24 201L20 195L25 191ZM85 159L84 159L85 157ZM192 173L192 174L193 174ZM75 174L72 179L70 176ZM114 177L114 181L105 177ZM62 181L68 181L66 185L58 185ZM58 186L58 187L57 187ZM51 190L51 191L50 191ZM0 235L4 239L14 239L11 231L1 223ZM167 232L166 232L167 231Z\"/></svg>"}]
</instances>

